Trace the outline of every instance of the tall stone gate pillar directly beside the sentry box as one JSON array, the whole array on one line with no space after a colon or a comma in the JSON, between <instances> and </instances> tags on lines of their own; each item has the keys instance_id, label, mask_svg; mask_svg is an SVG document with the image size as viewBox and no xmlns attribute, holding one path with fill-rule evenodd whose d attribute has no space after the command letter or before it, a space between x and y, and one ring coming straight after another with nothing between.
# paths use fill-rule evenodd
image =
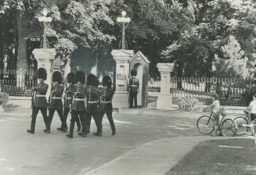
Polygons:
<instances>
[{"instance_id":1,"label":"tall stone gate pillar directly beside the sentry box","mask_svg":"<svg viewBox=\"0 0 256 175\"><path fill-rule=\"evenodd\" d=\"M113 98L114 108L128 108L128 75L130 60L135 54L132 50L113 50L111 52L116 62L116 91Z\"/></svg>"}]
</instances>

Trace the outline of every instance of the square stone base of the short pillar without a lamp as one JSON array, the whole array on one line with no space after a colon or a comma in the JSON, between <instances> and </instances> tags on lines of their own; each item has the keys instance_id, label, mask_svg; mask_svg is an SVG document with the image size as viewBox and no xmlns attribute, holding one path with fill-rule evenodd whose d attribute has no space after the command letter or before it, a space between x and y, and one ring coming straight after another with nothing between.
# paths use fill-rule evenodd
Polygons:
<instances>
[{"instance_id":1,"label":"square stone base of the short pillar without a lamp","mask_svg":"<svg viewBox=\"0 0 256 175\"><path fill-rule=\"evenodd\" d=\"M174 110L172 106L172 95L158 95L157 109Z\"/></svg>"}]
</instances>

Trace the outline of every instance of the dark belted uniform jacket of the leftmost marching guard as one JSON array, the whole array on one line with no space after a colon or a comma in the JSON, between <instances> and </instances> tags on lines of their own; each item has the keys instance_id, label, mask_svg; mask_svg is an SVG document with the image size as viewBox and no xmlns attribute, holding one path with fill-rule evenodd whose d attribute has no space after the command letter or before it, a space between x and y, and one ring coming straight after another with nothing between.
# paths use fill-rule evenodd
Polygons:
<instances>
[{"instance_id":1,"label":"dark belted uniform jacket of the leftmost marching guard","mask_svg":"<svg viewBox=\"0 0 256 175\"><path fill-rule=\"evenodd\" d=\"M47 107L46 92L48 90L48 84L37 84L35 87L35 97L33 107Z\"/></svg>"}]
</instances>

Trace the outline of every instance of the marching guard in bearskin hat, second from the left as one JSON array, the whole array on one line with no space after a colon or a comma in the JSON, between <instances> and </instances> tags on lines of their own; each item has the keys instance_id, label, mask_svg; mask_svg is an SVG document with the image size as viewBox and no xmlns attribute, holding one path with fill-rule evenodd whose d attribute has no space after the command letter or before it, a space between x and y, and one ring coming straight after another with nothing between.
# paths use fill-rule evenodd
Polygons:
<instances>
[{"instance_id":1,"label":"marching guard in bearskin hat, second from the left","mask_svg":"<svg viewBox=\"0 0 256 175\"><path fill-rule=\"evenodd\" d=\"M63 129L66 129L62 131L67 132L67 123L63 120L62 95L64 87L62 85L62 81L62 73L60 73L59 71L52 73L52 91L49 96L49 127L51 127L54 112L57 111L59 114L61 125L64 126Z\"/></svg>"}]
</instances>

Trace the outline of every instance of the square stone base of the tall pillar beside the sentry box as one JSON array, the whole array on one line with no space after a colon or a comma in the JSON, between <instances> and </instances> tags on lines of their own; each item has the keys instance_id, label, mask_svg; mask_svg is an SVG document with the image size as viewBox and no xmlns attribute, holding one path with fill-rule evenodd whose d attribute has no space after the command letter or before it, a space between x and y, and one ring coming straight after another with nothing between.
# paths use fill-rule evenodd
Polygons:
<instances>
[{"instance_id":1,"label":"square stone base of the tall pillar beside the sentry box","mask_svg":"<svg viewBox=\"0 0 256 175\"><path fill-rule=\"evenodd\" d=\"M113 108L121 109L128 108L128 92L127 91L115 91L112 99Z\"/></svg>"}]
</instances>

